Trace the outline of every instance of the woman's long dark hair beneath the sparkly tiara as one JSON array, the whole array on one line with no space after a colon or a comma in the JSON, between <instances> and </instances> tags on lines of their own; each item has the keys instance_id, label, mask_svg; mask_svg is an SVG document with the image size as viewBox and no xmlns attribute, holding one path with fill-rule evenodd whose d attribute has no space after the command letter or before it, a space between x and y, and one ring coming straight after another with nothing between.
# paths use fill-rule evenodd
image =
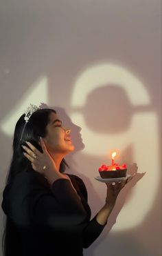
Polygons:
<instances>
[{"instance_id":1,"label":"woman's long dark hair beneath the sparkly tiara","mask_svg":"<svg viewBox=\"0 0 162 256\"><path fill-rule=\"evenodd\" d=\"M12 144L13 155L12 155L12 160L10 163L8 175L5 180L5 185L10 184L10 182L13 181L14 177L18 173L23 173L23 172L32 170L30 161L23 155L22 145L27 146L25 144L25 141L30 141L38 150L40 150L40 152L43 152L42 148L38 144L38 141L40 140L40 137L43 138L47 135L46 127L47 127L47 124L49 123L50 115L52 112L56 114L56 110L51 108L36 110L30 117L26 126L25 126L25 119L24 119L25 114L23 114L17 121L14 129L14 140ZM25 130L23 131L24 126L25 126ZM23 133L23 137L21 138L22 133ZM62 159L60 163L60 173L65 172L66 166L69 167L65 159ZM3 238L2 238L2 248L3 248L4 256L10 256L10 250L11 250L11 248L9 248L10 241L15 237L15 233L14 233L14 236L12 237L11 230L13 230L13 228L14 227L13 227L12 221L9 219L9 217L6 217L5 229L4 229ZM12 241L12 244L13 244L13 241Z\"/></svg>"}]
</instances>

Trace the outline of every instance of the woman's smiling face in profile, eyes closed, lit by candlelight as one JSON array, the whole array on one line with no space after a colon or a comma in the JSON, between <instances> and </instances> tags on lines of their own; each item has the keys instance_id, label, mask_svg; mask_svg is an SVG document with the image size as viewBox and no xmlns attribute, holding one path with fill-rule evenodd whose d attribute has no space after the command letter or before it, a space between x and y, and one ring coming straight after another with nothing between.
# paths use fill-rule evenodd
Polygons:
<instances>
[{"instance_id":1,"label":"woman's smiling face in profile, eyes closed, lit by candlelight","mask_svg":"<svg viewBox=\"0 0 162 256\"><path fill-rule=\"evenodd\" d=\"M49 118L50 121L46 127L47 135L43 138L47 149L54 153L56 152L62 155L67 155L74 149L70 137L71 130L62 126L62 121L60 121L58 115L54 112L50 114Z\"/></svg>"}]
</instances>

